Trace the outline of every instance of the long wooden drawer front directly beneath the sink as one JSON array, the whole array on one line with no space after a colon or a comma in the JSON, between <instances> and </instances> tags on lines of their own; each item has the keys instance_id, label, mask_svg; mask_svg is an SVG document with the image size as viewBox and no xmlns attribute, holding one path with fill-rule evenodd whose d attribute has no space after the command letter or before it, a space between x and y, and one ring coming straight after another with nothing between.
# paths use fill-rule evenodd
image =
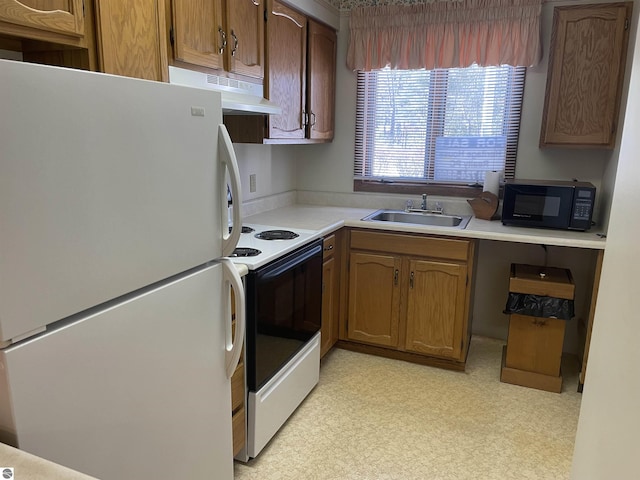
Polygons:
<instances>
[{"instance_id":1,"label":"long wooden drawer front directly beneath the sink","mask_svg":"<svg viewBox=\"0 0 640 480\"><path fill-rule=\"evenodd\" d=\"M351 248L419 255L421 257L466 261L469 258L469 244L469 240L452 238L421 237L362 230L351 231Z\"/></svg>"}]
</instances>

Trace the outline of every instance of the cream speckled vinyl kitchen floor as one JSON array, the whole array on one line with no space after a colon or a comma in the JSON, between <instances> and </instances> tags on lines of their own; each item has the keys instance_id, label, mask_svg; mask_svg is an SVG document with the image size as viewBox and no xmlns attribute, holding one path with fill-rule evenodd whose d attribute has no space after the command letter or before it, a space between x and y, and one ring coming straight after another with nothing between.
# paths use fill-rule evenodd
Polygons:
<instances>
[{"instance_id":1,"label":"cream speckled vinyl kitchen floor","mask_svg":"<svg viewBox=\"0 0 640 480\"><path fill-rule=\"evenodd\" d=\"M465 372L333 349L320 382L236 480L560 480L580 410L563 391L500 382L502 340L473 337Z\"/></svg>"}]
</instances>

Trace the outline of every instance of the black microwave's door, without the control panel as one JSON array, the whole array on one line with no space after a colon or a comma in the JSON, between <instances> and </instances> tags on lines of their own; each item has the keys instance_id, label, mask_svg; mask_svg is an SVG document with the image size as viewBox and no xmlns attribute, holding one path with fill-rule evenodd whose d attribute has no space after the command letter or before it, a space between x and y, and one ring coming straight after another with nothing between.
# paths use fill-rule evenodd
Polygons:
<instances>
[{"instance_id":1,"label":"black microwave's door, without the control panel","mask_svg":"<svg viewBox=\"0 0 640 480\"><path fill-rule=\"evenodd\" d=\"M552 185L506 184L502 223L526 227L569 228L575 189Z\"/></svg>"}]
</instances>

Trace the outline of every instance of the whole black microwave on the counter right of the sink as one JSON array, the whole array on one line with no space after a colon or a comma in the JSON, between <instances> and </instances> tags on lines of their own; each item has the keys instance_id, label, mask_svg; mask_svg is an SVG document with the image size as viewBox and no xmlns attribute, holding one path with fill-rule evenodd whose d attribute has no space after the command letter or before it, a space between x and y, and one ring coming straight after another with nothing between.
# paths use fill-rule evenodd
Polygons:
<instances>
[{"instance_id":1,"label":"whole black microwave on the counter right of the sink","mask_svg":"<svg viewBox=\"0 0 640 480\"><path fill-rule=\"evenodd\" d=\"M520 227L589 230L596 187L589 182L507 180L502 223Z\"/></svg>"}]
</instances>

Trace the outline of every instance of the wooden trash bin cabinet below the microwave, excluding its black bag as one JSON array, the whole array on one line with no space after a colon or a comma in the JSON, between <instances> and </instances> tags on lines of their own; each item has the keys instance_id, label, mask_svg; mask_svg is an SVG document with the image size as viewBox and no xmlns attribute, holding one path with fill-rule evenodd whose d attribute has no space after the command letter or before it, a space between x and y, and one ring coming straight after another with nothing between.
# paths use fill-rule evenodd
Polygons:
<instances>
[{"instance_id":1,"label":"wooden trash bin cabinet below the microwave, excluding its black bag","mask_svg":"<svg viewBox=\"0 0 640 480\"><path fill-rule=\"evenodd\" d=\"M573 301L574 284L567 269L513 264L509 292ZM511 313L503 349L500 380L560 393L560 361L566 320Z\"/></svg>"}]
</instances>

